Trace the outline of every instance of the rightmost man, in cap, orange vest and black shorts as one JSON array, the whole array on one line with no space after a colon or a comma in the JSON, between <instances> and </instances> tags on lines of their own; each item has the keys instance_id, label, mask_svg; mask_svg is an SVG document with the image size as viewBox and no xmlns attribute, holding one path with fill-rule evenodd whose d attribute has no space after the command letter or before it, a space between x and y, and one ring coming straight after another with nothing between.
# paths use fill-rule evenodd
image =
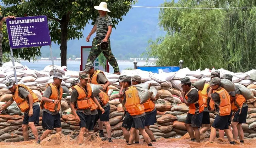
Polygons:
<instances>
[{"instance_id":1,"label":"rightmost man, in cap, orange vest and black shorts","mask_svg":"<svg viewBox=\"0 0 256 148\"><path fill-rule=\"evenodd\" d=\"M232 81L233 75L224 74L222 77ZM231 109L235 112L233 121L231 123L233 129L234 140L239 140L244 143L244 131L242 129L242 124L246 123L246 116L248 112L248 106L245 97L241 94L238 87L235 85L235 91L229 92Z\"/></svg>"}]
</instances>

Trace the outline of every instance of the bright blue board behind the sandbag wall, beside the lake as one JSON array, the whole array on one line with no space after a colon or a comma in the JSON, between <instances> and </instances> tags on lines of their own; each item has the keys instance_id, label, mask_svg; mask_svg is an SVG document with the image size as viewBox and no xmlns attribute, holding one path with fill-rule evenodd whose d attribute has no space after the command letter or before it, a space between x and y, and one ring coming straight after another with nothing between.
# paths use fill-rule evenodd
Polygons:
<instances>
[{"instance_id":1,"label":"bright blue board behind the sandbag wall, beside the lake","mask_svg":"<svg viewBox=\"0 0 256 148\"><path fill-rule=\"evenodd\" d=\"M161 69L165 73L170 73L170 72L178 72L180 70L179 66L137 66L137 69L141 69L147 72L152 72L152 73L158 73L158 70Z\"/></svg>"}]
</instances>

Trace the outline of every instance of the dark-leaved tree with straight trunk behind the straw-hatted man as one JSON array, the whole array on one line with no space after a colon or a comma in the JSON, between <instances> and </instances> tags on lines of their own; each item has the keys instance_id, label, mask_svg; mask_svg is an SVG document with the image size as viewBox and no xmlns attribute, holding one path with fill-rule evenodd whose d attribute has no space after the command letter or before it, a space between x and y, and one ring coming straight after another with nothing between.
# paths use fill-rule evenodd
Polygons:
<instances>
[{"instance_id":1,"label":"dark-leaved tree with straight trunk behind the straw-hatted man","mask_svg":"<svg viewBox=\"0 0 256 148\"><path fill-rule=\"evenodd\" d=\"M10 8L15 8L18 16L46 15L49 19L51 40L60 44L61 66L67 65L67 41L83 37L82 30L98 16L93 7L102 0L3 0ZM105 0L111 11L114 24L122 21L122 16L131 9L136 0Z\"/></svg>"}]
</instances>

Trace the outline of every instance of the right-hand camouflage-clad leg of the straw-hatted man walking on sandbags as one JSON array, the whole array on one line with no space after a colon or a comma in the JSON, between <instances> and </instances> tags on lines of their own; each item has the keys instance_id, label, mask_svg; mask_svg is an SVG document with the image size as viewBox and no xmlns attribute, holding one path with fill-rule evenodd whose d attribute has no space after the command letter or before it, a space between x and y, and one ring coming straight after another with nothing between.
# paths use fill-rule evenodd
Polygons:
<instances>
[{"instance_id":1,"label":"right-hand camouflage-clad leg of the straw-hatted man walking on sandbags","mask_svg":"<svg viewBox=\"0 0 256 148\"><path fill-rule=\"evenodd\" d=\"M114 68L114 73L119 72L119 67L118 63L111 52L111 47L110 47L110 40L108 39L108 48L106 50L102 50L103 55L107 58L109 64Z\"/></svg>"}]
</instances>

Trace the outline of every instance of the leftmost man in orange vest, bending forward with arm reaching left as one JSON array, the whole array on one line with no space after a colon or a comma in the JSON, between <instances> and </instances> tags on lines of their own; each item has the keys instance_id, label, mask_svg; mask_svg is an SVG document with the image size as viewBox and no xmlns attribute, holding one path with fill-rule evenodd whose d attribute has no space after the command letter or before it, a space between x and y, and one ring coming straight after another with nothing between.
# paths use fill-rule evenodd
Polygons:
<instances>
[{"instance_id":1,"label":"leftmost man in orange vest, bending forward with arm reaching left","mask_svg":"<svg viewBox=\"0 0 256 148\"><path fill-rule=\"evenodd\" d=\"M0 110L5 110L13 103L13 101L15 101L20 110L24 113L22 123L24 141L28 141L28 126L31 128L36 141L38 141L38 132L35 126L35 123L39 124L40 106L38 97L27 86L23 84L16 85L12 79L7 80L6 86L7 89L11 91L12 98Z\"/></svg>"}]
</instances>

